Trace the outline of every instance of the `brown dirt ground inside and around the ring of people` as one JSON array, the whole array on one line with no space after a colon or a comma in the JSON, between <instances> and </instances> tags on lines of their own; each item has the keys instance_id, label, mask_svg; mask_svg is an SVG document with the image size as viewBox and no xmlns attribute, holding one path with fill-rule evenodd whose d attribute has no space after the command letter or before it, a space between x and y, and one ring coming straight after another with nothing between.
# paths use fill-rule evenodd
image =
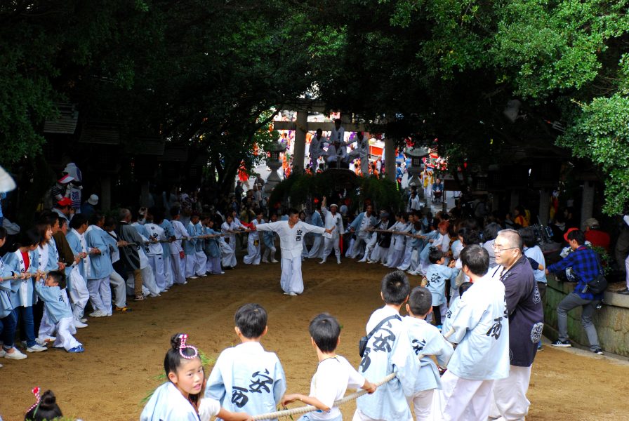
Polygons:
<instances>
[{"instance_id":1,"label":"brown dirt ground inside and around the ring of people","mask_svg":"<svg viewBox=\"0 0 629 421\"><path fill-rule=\"evenodd\" d=\"M279 356L289 392L309 391L317 357L307 325L315 314L330 312L343 325L338 353L355 366L357 342L369 315L382 305L380 265L344 260L303 266L305 293L282 295L279 263L251 267L239 263L222 276L175 286L159 298L132 305L133 312L91 319L77 338L86 352L63 350L29 354L28 359L1 359L0 414L5 421L23 420L34 402L34 386L52 389L65 415L83 420L138 420L142 399L159 385L164 354L173 333L209 356L236 345L233 316L246 302L258 302L269 314L266 349ZM418 277L411 277L416 286ZM626 360L626 359L625 359ZM529 389L527 420L626 420L629 417L629 364L606 356L590 356L545 346L538 354ZM376 379L372 379L376 380ZM351 420L355 404L343 407Z\"/></svg>"}]
</instances>

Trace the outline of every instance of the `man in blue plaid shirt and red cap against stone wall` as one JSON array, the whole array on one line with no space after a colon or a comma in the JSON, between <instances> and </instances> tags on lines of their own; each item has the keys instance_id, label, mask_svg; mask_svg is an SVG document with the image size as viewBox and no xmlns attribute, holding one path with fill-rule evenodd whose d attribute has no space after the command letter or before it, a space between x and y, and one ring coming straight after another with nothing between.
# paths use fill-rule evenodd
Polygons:
<instances>
[{"instance_id":1,"label":"man in blue plaid shirt and red cap against stone wall","mask_svg":"<svg viewBox=\"0 0 629 421\"><path fill-rule=\"evenodd\" d=\"M546 268L546 274L554 272L562 272L571 267L577 283L574 291L569 293L559 305L557 305L557 328L559 329L559 338L552 342L554 347L571 347L568 339L568 312L574 307L583 307L581 314L581 324L588 335L590 342L590 350L596 354L603 354L598 343L596 328L592 323L592 315L596 306L603 298L603 293L592 294L588 291L588 282L596 278L602 271L600 259L594 250L585 247L585 234L579 229L569 229L564 234L564 239L568 241L572 252L564 259L550 265Z\"/></svg>"}]
</instances>

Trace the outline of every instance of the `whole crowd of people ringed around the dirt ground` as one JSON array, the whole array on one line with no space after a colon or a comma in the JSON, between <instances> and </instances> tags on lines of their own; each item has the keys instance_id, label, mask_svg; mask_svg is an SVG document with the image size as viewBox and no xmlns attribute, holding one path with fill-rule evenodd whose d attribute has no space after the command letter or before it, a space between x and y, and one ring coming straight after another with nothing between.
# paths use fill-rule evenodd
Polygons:
<instances>
[{"instance_id":1,"label":"whole crowd of people ringed around the dirt ground","mask_svg":"<svg viewBox=\"0 0 629 421\"><path fill-rule=\"evenodd\" d=\"M171 419L160 417L176 410L193 411L201 420L211 415L249 420L293 401L323 411L304 420L339 419L333 401L347 387L370 393L358 400L355 420L409 419L407 399L413 400L417 420L435 414L444 420L523 419L531 365L541 349L548 273L577 282L557 307L560 335L552 345L571 346L567 312L583 307L590 349L602 354L592 323L602 293L588 291L590 279L601 272L597 254L588 247L588 236L599 245L595 220L585 232L566 229L564 259L546 267L538 232L527 227L524 208L516 209L512 221L479 215L479 206L432 215L414 185L406 209L397 213L376 212L367 200L362 212L352 214L340 196L340 206L324 196L310 214L270 210L260 189L244 194L237 185L229 200L211 206L194 193L173 191L162 195L165 206L121 208L113 218L96 208L95 195L77 208L63 188L69 187L65 177L51 189L53 208L11 239L0 259L0 352L6 359L26 359L27 353L44 352L50 345L84 352L74 334L87 327L86 316L128 312L128 297L142 301L199 276L224 274L237 267L238 246L246 248L244 265L277 263L278 236L280 286L286 295L303 293L305 259L325 264L333 256L341 265L350 258L395 271L383 279L385 306L367 323L358 370L334 352L338 321L319 315L310 335L319 361L333 361L319 365L310 395L284 395L282 366L259 344L266 333L265 311L247 305L236 315L243 343L218 359L205 393L199 386L204 376L197 350L186 335L173 336L164 364L168 382L153 395L142 419ZM0 228L0 247L7 239ZM418 276L423 286L411 291L407 276ZM401 309L409 316L402 318ZM18 326L27 353L20 350ZM437 357L438 366L430 356ZM395 380L376 389L373 382L394 367ZM251 384L241 387L244 382ZM252 385L268 392L266 400L249 393ZM169 397L173 394L178 399Z\"/></svg>"}]
</instances>

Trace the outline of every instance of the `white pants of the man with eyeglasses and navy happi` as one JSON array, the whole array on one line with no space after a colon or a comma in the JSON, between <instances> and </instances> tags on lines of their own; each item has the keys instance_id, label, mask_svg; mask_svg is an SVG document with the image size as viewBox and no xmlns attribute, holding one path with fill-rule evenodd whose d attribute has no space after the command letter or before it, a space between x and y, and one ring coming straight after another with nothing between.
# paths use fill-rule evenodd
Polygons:
<instances>
[{"instance_id":1,"label":"white pants of the man with eyeglasses and navy happi","mask_svg":"<svg viewBox=\"0 0 629 421\"><path fill-rule=\"evenodd\" d=\"M531 366L509 366L509 377L494 382L494 399L489 415L500 421L524 421L529 413L527 390L531 380Z\"/></svg>"}]
</instances>

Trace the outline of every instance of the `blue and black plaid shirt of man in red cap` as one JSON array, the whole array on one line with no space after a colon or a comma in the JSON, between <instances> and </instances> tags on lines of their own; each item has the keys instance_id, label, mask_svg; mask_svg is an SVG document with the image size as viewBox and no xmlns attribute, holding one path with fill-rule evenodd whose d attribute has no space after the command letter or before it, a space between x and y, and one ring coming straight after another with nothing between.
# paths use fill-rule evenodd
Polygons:
<instances>
[{"instance_id":1,"label":"blue and black plaid shirt of man in red cap","mask_svg":"<svg viewBox=\"0 0 629 421\"><path fill-rule=\"evenodd\" d=\"M548 272L560 272L571 267L578 279L574 287L574 293L583 300L601 300L603 294L583 293L583 288L588 285L602 271L598 256L594 250L585 246L578 246L576 250L565 258L550 265Z\"/></svg>"}]
</instances>

